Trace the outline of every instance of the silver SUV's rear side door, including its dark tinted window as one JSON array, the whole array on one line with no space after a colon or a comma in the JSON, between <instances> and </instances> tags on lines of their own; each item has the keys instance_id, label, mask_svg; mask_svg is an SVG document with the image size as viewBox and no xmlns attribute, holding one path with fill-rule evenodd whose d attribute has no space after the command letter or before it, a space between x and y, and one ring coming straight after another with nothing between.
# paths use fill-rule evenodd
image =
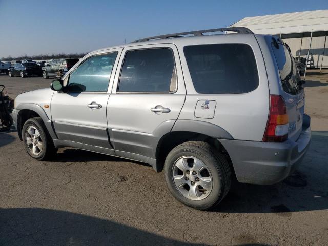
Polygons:
<instances>
[{"instance_id":1,"label":"silver SUV's rear side door, including its dark tinted window","mask_svg":"<svg viewBox=\"0 0 328 246\"><path fill-rule=\"evenodd\" d=\"M178 51L171 44L128 47L118 66L107 110L115 153L154 159L156 140L171 131L185 101Z\"/></svg>"}]
</instances>

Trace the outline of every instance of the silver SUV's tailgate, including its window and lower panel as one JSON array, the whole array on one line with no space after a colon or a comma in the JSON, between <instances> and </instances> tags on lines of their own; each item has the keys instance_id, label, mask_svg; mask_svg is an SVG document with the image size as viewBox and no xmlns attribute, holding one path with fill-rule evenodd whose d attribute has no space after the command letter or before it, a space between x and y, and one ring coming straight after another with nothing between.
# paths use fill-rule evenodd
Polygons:
<instances>
[{"instance_id":1,"label":"silver SUV's tailgate, including its window and lower panel","mask_svg":"<svg viewBox=\"0 0 328 246\"><path fill-rule=\"evenodd\" d=\"M289 119L288 137L297 140L302 132L304 114L304 89L298 86L301 80L294 58L283 43L271 44L275 55Z\"/></svg>"}]
</instances>

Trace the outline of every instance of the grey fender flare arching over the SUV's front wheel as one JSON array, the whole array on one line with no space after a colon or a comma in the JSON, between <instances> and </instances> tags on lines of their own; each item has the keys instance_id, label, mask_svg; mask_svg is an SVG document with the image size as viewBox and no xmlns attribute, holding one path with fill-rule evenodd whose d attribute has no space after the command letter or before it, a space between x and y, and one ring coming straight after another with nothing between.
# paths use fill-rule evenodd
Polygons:
<instances>
[{"instance_id":1,"label":"grey fender flare arching over the SUV's front wheel","mask_svg":"<svg viewBox=\"0 0 328 246\"><path fill-rule=\"evenodd\" d=\"M20 130L20 129L22 129L22 127L21 127L22 122L20 122L19 116L22 113L22 110L32 110L35 113L37 113L42 118L51 138L58 139L57 135L54 131L52 121L48 118L46 112L44 111L44 109L41 106L39 106L37 104L33 104L33 103L22 103L22 104L19 104L16 109L19 110L19 112L17 114L17 132L18 132L18 136L19 136L20 140L22 140L22 131Z\"/></svg>"}]
</instances>

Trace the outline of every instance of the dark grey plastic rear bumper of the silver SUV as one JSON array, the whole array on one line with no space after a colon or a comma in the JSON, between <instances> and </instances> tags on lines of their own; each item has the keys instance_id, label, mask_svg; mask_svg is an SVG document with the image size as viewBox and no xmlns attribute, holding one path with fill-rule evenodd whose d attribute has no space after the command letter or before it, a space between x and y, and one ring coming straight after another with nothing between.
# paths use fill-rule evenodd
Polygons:
<instances>
[{"instance_id":1,"label":"dark grey plastic rear bumper of the silver SUV","mask_svg":"<svg viewBox=\"0 0 328 246\"><path fill-rule=\"evenodd\" d=\"M230 155L239 182L272 185L298 167L310 140L310 116L304 114L302 133L297 141L288 139L275 143L220 139L220 142Z\"/></svg>"}]
</instances>

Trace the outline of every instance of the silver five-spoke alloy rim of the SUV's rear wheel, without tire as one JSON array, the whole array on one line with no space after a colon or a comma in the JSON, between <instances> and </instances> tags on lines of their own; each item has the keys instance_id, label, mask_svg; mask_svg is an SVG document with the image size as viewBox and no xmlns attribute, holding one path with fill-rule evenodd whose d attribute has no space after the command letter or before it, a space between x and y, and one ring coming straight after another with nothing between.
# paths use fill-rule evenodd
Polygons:
<instances>
[{"instance_id":1,"label":"silver five-spoke alloy rim of the SUV's rear wheel, without tire","mask_svg":"<svg viewBox=\"0 0 328 246\"><path fill-rule=\"evenodd\" d=\"M175 161L172 179L176 189L191 200L199 201L208 197L213 188L210 170L193 156L182 156Z\"/></svg>"}]
</instances>

